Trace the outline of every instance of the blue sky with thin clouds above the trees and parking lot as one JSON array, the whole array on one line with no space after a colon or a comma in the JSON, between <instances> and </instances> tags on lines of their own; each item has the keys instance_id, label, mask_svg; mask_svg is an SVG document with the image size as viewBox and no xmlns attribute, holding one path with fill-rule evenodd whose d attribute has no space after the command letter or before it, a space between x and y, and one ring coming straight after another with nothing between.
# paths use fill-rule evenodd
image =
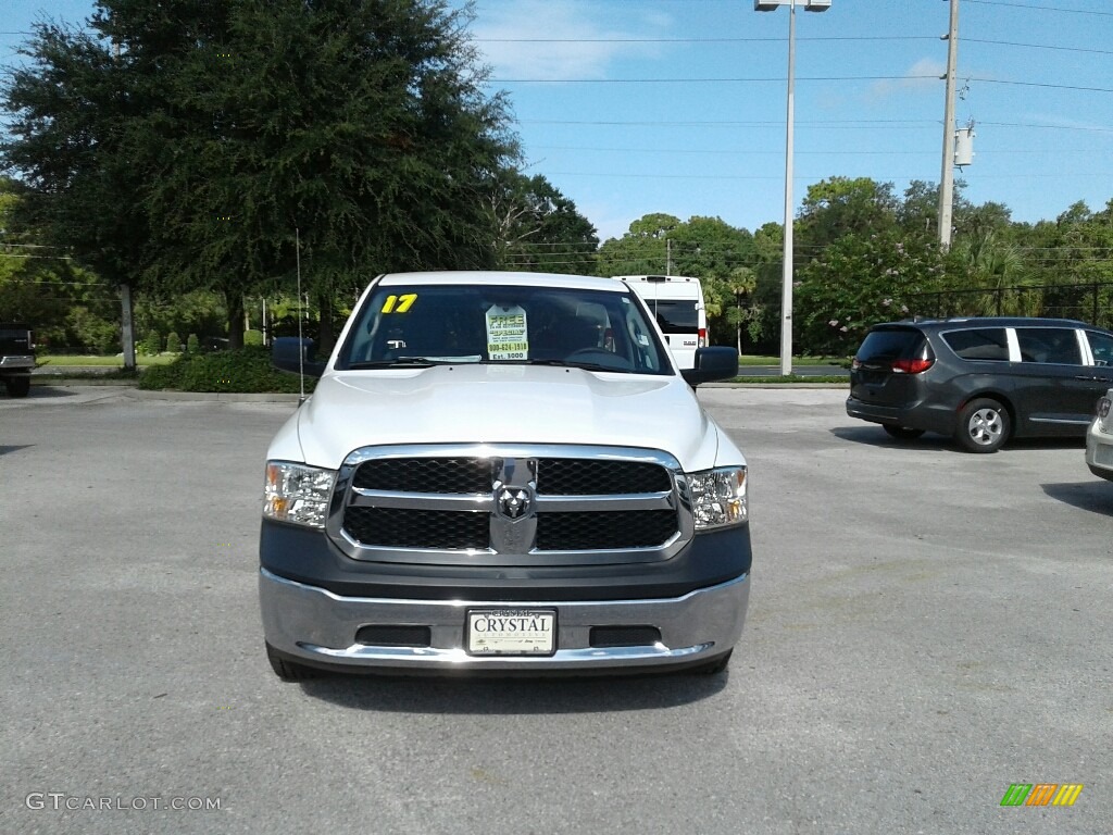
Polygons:
<instances>
[{"instance_id":1,"label":"blue sky with thin clouds above the trees and parking lot","mask_svg":"<svg viewBox=\"0 0 1113 835\"><path fill-rule=\"evenodd\" d=\"M455 2L456 0L454 0ZM789 10L752 0L477 0L471 26L510 97L523 171L600 239L651 213L755 230L785 216ZM949 0L796 0L794 213L830 177L942 175ZM47 14L91 0L0 0L0 62ZM956 170L975 204L1053 220L1113 199L1113 0L961 0Z\"/></svg>"}]
</instances>

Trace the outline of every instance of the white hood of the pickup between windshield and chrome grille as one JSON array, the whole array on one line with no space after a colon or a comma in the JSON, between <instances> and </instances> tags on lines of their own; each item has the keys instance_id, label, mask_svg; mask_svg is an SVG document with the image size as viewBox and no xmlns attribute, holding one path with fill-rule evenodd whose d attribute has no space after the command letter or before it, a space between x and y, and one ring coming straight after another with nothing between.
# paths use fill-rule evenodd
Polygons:
<instances>
[{"instance_id":1,"label":"white hood of the pickup between windshield and chrome grille","mask_svg":"<svg viewBox=\"0 0 1113 835\"><path fill-rule=\"evenodd\" d=\"M693 472L716 465L719 442L679 376L460 364L329 372L269 458L294 459L298 450L305 463L335 469L371 445L603 444L662 450Z\"/></svg>"}]
</instances>

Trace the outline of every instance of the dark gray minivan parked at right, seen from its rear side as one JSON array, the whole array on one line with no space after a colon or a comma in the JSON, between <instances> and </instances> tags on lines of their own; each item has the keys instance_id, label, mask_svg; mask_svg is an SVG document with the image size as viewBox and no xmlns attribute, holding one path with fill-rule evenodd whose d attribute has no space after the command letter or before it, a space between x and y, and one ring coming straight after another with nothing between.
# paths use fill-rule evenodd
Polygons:
<instances>
[{"instance_id":1,"label":"dark gray minivan parked at right, seen from its rear side","mask_svg":"<svg viewBox=\"0 0 1113 835\"><path fill-rule=\"evenodd\" d=\"M1012 438L1083 436L1113 385L1113 333L1055 318L875 325L850 369L851 418L892 436L938 432L969 452Z\"/></svg>"}]
</instances>

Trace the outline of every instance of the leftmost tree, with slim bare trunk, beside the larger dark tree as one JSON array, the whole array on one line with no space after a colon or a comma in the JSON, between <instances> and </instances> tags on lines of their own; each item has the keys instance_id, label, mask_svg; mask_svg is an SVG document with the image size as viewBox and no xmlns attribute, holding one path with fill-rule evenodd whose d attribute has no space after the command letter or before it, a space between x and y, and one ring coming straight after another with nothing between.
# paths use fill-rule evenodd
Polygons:
<instances>
[{"instance_id":1,"label":"leftmost tree, with slim bare trunk, beside the larger dark tree","mask_svg":"<svg viewBox=\"0 0 1113 835\"><path fill-rule=\"evenodd\" d=\"M0 92L10 117L0 168L27 186L16 217L119 286L129 324L148 238L130 126L148 105L149 86L137 86L140 77L120 66L108 42L61 24L36 23L19 52L32 63L14 69ZM134 367L134 342L126 343Z\"/></svg>"}]
</instances>

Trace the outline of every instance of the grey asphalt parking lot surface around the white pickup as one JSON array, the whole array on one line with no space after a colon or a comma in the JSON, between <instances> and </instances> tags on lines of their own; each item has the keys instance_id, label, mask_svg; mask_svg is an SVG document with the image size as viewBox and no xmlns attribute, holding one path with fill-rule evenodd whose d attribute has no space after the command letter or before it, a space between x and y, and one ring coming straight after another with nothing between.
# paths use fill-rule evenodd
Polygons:
<instances>
[{"instance_id":1,"label":"grey asphalt parking lot surface around the white pickup","mask_svg":"<svg viewBox=\"0 0 1113 835\"><path fill-rule=\"evenodd\" d=\"M1082 442L700 396L751 470L728 675L302 685L255 576L292 403L0 397L0 832L1113 832L1113 483ZM1002 807L1015 783L1084 788Z\"/></svg>"}]
</instances>

